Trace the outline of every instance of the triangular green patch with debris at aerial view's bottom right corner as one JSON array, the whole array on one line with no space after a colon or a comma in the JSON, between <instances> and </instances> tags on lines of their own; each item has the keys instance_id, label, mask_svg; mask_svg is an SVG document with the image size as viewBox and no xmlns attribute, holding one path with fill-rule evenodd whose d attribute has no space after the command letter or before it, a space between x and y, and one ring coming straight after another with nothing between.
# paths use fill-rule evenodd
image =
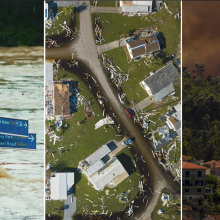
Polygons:
<instances>
[{"instance_id":1,"label":"triangular green patch with debris at aerial view's bottom right corner","mask_svg":"<svg viewBox=\"0 0 220 220\"><path fill-rule=\"evenodd\" d=\"M161 196L163 193L168 193L170 194L170 192L167 189L163 189L160 197L159 197L159 201L153 211L153 220L160 220L160 219L172 219L172 215L175 217L176 220L180 220L181 219L181 214L180 214L180 210L181 210L181 200L180 199L174 199L172 198L172 201L169 202L169 207L167 206L162 206L163 202L161 200ZM157 211L159 209L163 209L163 214L158 215Z\"/></svg>"}]
</instances>

